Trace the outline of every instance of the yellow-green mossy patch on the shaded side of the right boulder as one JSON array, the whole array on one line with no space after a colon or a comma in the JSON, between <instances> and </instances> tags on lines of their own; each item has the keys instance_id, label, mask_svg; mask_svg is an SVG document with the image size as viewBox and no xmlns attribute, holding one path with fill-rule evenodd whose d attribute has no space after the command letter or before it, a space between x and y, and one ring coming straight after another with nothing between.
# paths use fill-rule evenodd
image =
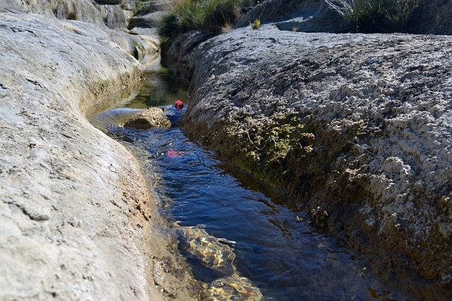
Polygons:
<instances>
[{"instance_id":1,"label":"yellow-green mossy patch on the shaded side of the right boulder","mask_svg":"<svg viewBox=\"0 0 452 301\"><path fill-rule=\"evenodd\" d=\"M365 179L358 179L349 163L337 165L337 160L352 151L353 138L364 123L343 124L342 130L328 129L328 124L297 116L283 116L264 121L244 120L246 131L221 137L220 153L240 170L277 189L285 189L297 199L310 199L317 206L315 194L342 191L343 198L332 199L331 204L355 203L368 193L363 189ZM249 126L251 124L252 126ZM328 129L328 130L326 130ZM225 148L225 145L231 148ZM343 170L336 175L337 182L325 191L332 170Z\"/></svg>"}]
</instances>

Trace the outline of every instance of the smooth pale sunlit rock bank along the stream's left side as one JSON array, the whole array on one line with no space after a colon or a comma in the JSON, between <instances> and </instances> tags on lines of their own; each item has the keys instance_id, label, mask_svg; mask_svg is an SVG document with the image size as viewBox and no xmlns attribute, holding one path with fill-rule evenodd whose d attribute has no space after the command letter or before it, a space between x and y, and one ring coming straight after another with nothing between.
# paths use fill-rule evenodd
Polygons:
<instances>
[{"instance_id":1,"label":"smooth pale sunlit rock bank along the stream's left side","mask_svg":"<svg viewBox=\"0 0 452 301\"><path fill-rule=\"evenodd\" d=\"M0 300L190 300L138 163L85 118L138 62L107 29L0 15Z\"/></svg>"}]
</instances>

